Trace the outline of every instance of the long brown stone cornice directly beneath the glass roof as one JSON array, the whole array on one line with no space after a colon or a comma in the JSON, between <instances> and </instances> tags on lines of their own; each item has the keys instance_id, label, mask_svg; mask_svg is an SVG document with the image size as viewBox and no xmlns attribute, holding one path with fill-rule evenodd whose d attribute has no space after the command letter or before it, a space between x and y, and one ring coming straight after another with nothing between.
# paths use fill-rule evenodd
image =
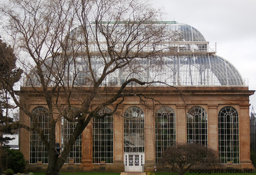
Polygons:
<instances>
[{"instance_id":1,"label":"long brown stone cornice directly beneath the glass roof","mask_svg":"<svg viewBox=\"0 0 256 175\"><path fill-rule=\"evenodd\" d=\"M51 88L49 88L51 90ZM74 90L78 90L81 95L90 94L92 87L75 87ZM114 95L119 90L119 87L99 87L99 94ZM18 94L26 95L40 95L43 89L38 87L36 89L32 87L21 87ZM60 93L62 90L59 91ZM181 86L181 87L125 87L123 93L143 93L147 95L253 95L254 90L248 90L248 87L222 87L222 86Z\"/></svg>"}]
</instances>

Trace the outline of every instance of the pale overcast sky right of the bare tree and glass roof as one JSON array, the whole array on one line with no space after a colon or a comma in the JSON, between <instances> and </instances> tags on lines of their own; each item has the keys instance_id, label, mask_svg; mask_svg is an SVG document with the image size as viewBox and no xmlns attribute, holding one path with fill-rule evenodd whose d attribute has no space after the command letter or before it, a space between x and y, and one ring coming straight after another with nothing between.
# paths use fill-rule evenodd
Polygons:
<instances>
[{"instance_id":1,"label":"pale overcast sky right of the bare tree and glass roof","mask_svg":"<svg viewBox=\"0 0 256 175\"><path fill-rule=\"evenodd\" d=\"M256 90L256 0L150 0L164 8L164 21L177 21L199 30L216 55L231 62L249 90ZM256 95L250 97L256 110ZM250 110L251 112L251 110Z\"/></svg>"}]
</instances>

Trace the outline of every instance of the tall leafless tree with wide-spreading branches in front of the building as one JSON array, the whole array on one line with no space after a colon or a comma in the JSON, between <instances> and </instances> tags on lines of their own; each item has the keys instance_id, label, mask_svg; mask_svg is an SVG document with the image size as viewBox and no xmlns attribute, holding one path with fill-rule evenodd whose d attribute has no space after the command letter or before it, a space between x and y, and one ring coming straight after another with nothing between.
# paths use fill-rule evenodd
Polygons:
<instances>
[{"instance_id":1,"label":"tall leafless tree with wide-spreading branches in front of the building","mask_svg":"<svg viewBox=\"0 0 256 175\"><path fill-rule=\"evenodd\" d=\"M9 93L33 121L32 125L17 124L36 131L46 146L46 175L58 174L92 117L114 114L125 96L136 95L145 101L143 90L159 83L147 72L161 69L158 53L172 34L165 32L164 24L155 22L161 13L146 2L14 0L2 4L1 12L8 19L3 27L20 50L26 79L20 99L11 87ZM127 85L144 88L136 93L133 89L124 92ZM36 95L32 97L31 93ZM29 104L39 99L48 110L31 112ZM109 105L111 112L98 113ZM58 158L55 133L61 117L76 122L76 127ZM49 138L43 132L43 120L50 128Z\"/></svg>"}]
</instances>

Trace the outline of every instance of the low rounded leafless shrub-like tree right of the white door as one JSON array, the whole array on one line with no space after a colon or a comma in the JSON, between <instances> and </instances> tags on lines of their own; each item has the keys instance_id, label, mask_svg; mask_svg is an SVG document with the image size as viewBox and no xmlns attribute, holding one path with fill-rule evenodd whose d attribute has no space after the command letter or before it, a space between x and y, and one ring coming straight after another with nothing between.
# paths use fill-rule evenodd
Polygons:
<instances>
[{"instance_id":1,"label":"low rounded leafless shrub-like tree right of the white door","mask_svg":"<svg viewBox=\"0 0 256 175\"><path fill-rule=\"evenodd\" d=\"M162 168L170 167L180 175L190 168L211 169L221 165L217 151L198 143L176 143L162 153L158 163Z\"/></svg>"}]
</instances>

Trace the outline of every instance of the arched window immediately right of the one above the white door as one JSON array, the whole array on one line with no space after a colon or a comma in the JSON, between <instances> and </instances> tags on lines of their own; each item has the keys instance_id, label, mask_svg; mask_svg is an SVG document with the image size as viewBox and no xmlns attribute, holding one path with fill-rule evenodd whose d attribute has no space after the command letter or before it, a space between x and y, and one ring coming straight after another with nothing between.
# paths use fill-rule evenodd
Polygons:
<instances>
[{"instance_id":1,"label":"arched window immediately right of the one above the white door","mask_svg":"<svg viewBox=\"0 0 256 175\"><path fill-rule=\"evenodd\" d=\"M171 107L160 107L155 119L155 162L162 152L176 141L176 115Z\"/></svg>"}]
</instances>

